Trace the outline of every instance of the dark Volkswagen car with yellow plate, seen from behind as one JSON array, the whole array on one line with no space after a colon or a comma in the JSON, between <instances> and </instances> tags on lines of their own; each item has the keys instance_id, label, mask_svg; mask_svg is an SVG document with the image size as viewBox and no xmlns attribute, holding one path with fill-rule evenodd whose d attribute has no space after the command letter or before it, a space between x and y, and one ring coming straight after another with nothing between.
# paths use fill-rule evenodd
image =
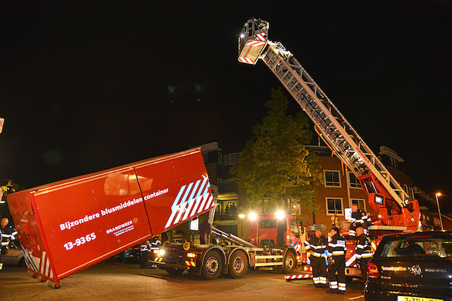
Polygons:
<instances>
[{"instance_id":1,"label":"dark Volkswagen car with yellow plate, seen from behind","mask_svg":"<svg viewBox=\"0 0 452 301\"><path fill-rule=\"evenodd\" d=\"M384 237L367 277L365 300L452 300L452 232Z\"/></svg>"}]
</instances>

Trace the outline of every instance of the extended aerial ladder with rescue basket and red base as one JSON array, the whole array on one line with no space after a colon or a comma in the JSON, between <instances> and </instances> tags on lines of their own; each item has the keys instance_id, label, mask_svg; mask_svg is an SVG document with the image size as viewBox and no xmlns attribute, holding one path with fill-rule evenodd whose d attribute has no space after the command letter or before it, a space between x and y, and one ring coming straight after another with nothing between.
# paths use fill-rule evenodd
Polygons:
<instances>
[{"instance_id":1,"label":"extended aerial ladder with rescue basket and red base","mask_svg":"<svg viewBox=\"0 0 452 301\"><path fill-rule=\"evenodd\" d=\"M417 200L410 199L295 56L280 42L268 40L268 28L265 20L253 18L245 23L238 60L254 65L262 59L266 63L311 118L326 145L359 178L380 224L416 230L420 221Z\"/></svg>"}]
</instances>

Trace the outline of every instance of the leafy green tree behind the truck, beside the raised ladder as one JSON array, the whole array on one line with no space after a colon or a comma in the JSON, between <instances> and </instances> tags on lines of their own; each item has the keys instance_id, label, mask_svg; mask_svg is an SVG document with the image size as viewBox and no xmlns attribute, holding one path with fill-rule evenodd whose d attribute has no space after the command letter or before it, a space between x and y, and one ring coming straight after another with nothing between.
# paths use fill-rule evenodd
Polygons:
<instances>
[{"instance_id":1,"label":"leafy green tree behind the truck, beside the raised ladder","mask_svg":"<svg viewBox=\"0 0 452 301\"><path fill-rule=\"evenodd\" d=\"M287 115L287 104L280 88L271 90L271 99L264 104L268 114L254 125L254 135L239 153L232 173L251 206L263 206L265 199L268 211L287 209L288 199L299 199L304 211L319 214L315 197L321 171L316 155L304 147L312 132L304 112Z\"/></svg>"}]
</instances>

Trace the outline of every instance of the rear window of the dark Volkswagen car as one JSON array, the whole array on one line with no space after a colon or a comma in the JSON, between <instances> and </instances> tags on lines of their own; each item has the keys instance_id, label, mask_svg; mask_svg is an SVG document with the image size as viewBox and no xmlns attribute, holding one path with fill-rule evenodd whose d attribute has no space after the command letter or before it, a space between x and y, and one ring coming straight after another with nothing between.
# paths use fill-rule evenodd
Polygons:
<instances>
[{"instance_id":1,"label":"rear window of the dark Volkswagen car","mask_svg":"<svg viewBox=\"0 0 452 301\"><path fill-rule=\"evenodd\" d=\"M452 258L452 238L409 237L391 240L381 257L447 257Z\"/></svg>"}]
</instances>

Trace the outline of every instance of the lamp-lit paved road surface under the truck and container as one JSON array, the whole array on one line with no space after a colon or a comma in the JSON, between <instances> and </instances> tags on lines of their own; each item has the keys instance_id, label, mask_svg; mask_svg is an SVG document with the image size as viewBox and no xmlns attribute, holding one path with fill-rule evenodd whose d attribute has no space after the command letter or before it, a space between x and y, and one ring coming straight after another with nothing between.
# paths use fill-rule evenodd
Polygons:
<instances>
[{"instance_id":1,"label":"lamp-lit paved road surface under the truck and container","mask_svg":"<svg viewBox=\"0 0 452 301\"><path fill-rule=\"evenodd\" d=\"M61 281L61 288L26 274L25 268L0 270L1 300L364 300L362 281L347 285L345 295L314 288L311 279L285 281L270 269L247 271L239 279L225 276L215 281L170 276L159 269L139 269L135 264L102 262Z\"/></svg>"}]
</instances>

